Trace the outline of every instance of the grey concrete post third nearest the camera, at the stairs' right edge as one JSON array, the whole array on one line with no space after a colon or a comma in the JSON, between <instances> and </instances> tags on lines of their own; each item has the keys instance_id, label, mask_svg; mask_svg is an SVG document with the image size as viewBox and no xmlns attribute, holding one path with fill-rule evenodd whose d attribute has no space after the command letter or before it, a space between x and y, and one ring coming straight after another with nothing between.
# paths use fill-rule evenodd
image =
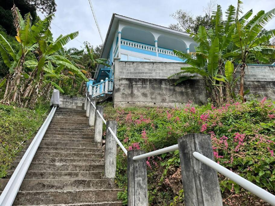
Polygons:
<instances>
[{"instance_id":1,"label":"grey concrete post third nearest the camera, at the stairs' right edge","mask_svg":"<svg viewBox=\"0 0 275 206\"><path fill-rule=\"evenodd\" d=\"M108 120L106 122L106 143L104 156L104 179L114 179L117 169L117 142L108 127L117 135L117 121Z\"/></svg>"}]
</instances>

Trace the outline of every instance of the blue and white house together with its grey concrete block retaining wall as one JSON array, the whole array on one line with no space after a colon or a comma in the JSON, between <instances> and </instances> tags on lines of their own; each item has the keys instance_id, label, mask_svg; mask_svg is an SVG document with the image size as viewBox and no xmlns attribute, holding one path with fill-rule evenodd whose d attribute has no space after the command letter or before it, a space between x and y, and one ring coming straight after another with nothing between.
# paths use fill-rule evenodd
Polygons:
<instances>
[{"instance_id":1,"label":"blue and white house together with its grey concrete block retaining wall","mask_svg":"<svg viewBox=\"0 0 275 206\"><path fill-rule=\"evenodd\" d=\"M208 95L202 79L192 78L176 86L177 77L168 79L189 66L173 50L194 52L196 46L188 33L113 14L101 52L110 67L97 66L87 91L91 98L112 97L115 107L174 107L189 100L206 103ZM249 65L245 89L275 98L273 72L272 65Z\"/></svg>"}]
</instances>

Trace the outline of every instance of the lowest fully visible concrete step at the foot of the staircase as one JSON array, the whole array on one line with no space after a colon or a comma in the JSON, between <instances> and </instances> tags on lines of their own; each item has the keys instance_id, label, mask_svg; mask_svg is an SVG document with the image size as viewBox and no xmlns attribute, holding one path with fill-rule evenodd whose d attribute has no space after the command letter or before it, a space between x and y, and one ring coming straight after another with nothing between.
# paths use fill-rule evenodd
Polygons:
<instances>
[{"instance_id":1,"label":"lowest fully visible concrete step at the foot of the staircase","mask_svg":"<svg viewBox=\"0 0 275 206\"><path fill-rule=\"evenodd\" d=\"M14 205L117 201L120 189L18 192Z\"/></svg>"}]
</instances>

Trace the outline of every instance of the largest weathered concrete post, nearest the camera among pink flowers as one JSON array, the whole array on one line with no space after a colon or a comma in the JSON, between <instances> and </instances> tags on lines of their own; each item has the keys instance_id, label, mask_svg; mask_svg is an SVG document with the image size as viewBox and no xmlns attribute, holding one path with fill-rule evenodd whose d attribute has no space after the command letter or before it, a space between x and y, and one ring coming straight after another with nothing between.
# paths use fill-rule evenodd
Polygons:
<instances>
[{"instance_id":1,"label":"largest weathered concrete post, nearest the camera among pink flowers","mask_svg":"<svg viewBox=\"0 0 275 206\"><path fill-rule=\"evenodd\" d=\"M214 160L210 136L187 134L178 138L177 142L185 205L222 206L217 172L193 157L193 152L196 151Z\"/></svg>"}]
</instances>

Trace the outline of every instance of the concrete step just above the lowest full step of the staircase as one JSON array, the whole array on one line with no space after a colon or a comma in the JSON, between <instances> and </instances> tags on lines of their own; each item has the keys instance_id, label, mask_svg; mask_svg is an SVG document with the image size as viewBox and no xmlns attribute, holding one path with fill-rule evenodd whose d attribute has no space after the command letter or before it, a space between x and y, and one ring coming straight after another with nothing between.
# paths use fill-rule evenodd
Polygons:
<instances>
[{"instance_id":1,"label":"concrete step just above the lowest full step of the staircase","mask_svg":"<svg viewBox=\"0 0 275 206\"><path fill-rule=\"evenodd\" d=\"M3 191L9 179L0 179ZM24 179L19 191L58 191L84 189L115 189L112 179Z\"/></svg>"}]
</instances>

